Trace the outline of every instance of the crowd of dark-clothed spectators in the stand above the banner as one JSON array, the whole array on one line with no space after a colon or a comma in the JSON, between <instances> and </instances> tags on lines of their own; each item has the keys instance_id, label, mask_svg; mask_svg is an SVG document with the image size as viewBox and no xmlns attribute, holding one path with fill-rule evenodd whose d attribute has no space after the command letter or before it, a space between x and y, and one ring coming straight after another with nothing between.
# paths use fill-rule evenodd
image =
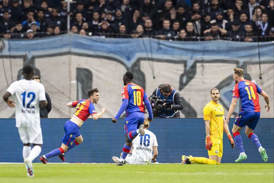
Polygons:
<instances>
[{"instance_id":1,"label":"crowd of dark-clothed spectators in the stand above the banner","mask_svg":"<svg viewBox=\"0 0 274 183\"><path fill-rule=\"evenodd\" d=\"M0 0L2 37L67 32L67 0ZM75 0L70 31L111 38L273 41L274 0Z\"/></svg>"}]
</instances>

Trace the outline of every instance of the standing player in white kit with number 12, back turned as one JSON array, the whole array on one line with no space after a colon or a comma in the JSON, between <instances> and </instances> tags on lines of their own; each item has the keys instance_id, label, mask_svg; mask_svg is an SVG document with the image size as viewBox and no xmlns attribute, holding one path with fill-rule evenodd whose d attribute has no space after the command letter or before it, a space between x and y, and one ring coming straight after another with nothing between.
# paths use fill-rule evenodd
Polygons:
<instances>
[{"instance_id":1,"label":"standing player in white kit with number 12, back turned","mask_svg":"<svg viewBox=\"0 0 274 183\"><path fill-rule=\"evenodd\" d=\"M23 142L23 158L26 163L27 176L34 177L32 161L39 156L43 144L40 127L39 103L42 107L47 106L45 88L42 84L32 80L33 67L23 67L24 79L14 81L3 95L3 99L9 107L16 107L16 127ZM16 102L9 99L16 95ZM31 144L33 148L31 149Z\"/></svg>"}]
</instances>

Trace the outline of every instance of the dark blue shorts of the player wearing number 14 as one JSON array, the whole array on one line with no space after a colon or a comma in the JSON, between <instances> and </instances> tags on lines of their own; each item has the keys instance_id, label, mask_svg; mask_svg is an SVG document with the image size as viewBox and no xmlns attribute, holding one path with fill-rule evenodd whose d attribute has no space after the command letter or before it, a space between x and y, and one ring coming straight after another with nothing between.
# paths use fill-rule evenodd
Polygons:
<instances>
[{"instance_id":1,"label":"dark blue shorts of the player wearing number 14","mask_svg":"<svg viewBox=\"0 0 274 183\"><path fill-rule=\"evenodd\" d=\"M255 130L255 127L260 119L260 112L251 112L251 113L239 113L235 119L234 124L238 127L244 127L245 125Z\"/></svg>"}]
</instances>

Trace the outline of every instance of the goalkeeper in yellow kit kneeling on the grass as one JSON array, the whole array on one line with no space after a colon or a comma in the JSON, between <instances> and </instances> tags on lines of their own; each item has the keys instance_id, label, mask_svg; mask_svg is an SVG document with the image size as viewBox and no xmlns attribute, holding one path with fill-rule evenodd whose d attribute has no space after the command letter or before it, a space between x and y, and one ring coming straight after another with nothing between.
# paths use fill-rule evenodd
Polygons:
<instances>
[{"instance_id":1,"label":"goalkeeper in yellow kit kneeling on the grass","mask_svg":"<svg viewBox=\"0 0 274 183\"><path fill-rule=\"evenodd\" d=\"M223 106L219 104L220 91L213 88L210 91L212 100L204 107L204 120L206 124L206 149L209 158L182 156L183 164L220 164L223 156L223 131L230 140L231 148L234 148L234 140L230 135L228 125L224 118Z\"/></svg>"}]
</instances>

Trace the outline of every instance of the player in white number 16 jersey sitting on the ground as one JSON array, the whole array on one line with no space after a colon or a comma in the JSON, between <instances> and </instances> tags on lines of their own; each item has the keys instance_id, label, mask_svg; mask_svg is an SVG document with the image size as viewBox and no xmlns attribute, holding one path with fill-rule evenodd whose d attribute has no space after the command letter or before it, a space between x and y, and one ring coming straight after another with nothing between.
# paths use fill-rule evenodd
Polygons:
<instances>
[{"instance_id":1,"label":"player in white number 16 jersey sitting on the ground","mask_svg":"<svg viewBox=\"0 0 274 183\"><path fill-rule=\"evenodd\" d=\"M150 164L156 162L156 157L158 156L158 143L154 133L148 130L149 120L146 118L144 123L145 135L138 135L132 141L132 148L128 155L125 158L125 163L128 164ZM122 155L122 154L121 154ZM112 160L115 163L119 163L120 158L113 156Z\"/></svg>"}]
</instances>

